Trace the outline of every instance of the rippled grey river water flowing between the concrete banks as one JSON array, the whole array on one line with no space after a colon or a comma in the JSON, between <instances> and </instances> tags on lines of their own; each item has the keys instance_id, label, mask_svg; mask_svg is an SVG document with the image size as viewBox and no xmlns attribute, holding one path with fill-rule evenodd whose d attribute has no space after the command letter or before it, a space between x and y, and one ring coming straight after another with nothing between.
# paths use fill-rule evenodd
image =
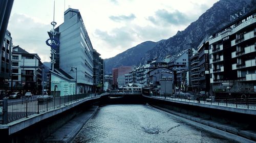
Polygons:
<instances>
[{"instance_id":1,"label":"rippled grey river water flowing between the concrete banks","mask_svg":"<svg viewBox=\"0 0 256 143\"><path fill-rule=\"evenodd\" d=\"M74 138L78 142L233 142L146 105L100 107Z\"/></svg>"}]
</instances>

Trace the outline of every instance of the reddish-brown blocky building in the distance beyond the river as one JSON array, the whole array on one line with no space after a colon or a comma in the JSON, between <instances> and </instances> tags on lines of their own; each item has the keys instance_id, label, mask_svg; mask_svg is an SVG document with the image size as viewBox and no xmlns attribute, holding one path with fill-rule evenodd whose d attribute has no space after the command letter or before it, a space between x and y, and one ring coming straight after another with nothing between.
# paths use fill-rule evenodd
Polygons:
<instances>
[{"instance_id":1,"label":"reddish-brown blocky building in the distance beyond the river","mask_svg":"<svg viewBox=\"0 0 256 143\"><path fill-rule=\"evenodd\" d=\"M124 75L131 72L132 69L133 69L132 66L120 66L118 68L112 69L113 89L117 89L117 88L125 85L125 76ZM118 82L118 80L119 80L119 82Z\"/></svg>"}]
</instances>

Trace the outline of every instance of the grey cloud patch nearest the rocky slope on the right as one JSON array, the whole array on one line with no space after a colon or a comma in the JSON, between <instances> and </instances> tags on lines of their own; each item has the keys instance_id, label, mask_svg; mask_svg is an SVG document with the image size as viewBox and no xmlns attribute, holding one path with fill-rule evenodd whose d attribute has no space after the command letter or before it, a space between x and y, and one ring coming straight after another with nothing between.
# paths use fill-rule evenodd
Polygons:
<instances>
[{"instance_id":1,"label":"grey cloud patch nearest the rocky slope on the right","mask_svg":"<svg viewBox=\"0 0 256 143\"><path fill-rule=\"evenodd\" d=\"M177 10L171 13L164 9L157 10L155 12L155 17L149 16L147 20L151 21L155 25L187 24L191 21L188 16Z\"/></svg>"}]
</instances>

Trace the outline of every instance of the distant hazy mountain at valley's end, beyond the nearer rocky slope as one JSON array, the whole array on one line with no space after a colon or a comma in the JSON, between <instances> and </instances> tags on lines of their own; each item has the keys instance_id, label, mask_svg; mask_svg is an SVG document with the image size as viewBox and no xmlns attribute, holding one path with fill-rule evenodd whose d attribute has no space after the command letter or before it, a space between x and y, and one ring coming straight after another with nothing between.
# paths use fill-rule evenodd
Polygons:
<instances>
[{"instance_id":1,"label":"distant hazy mountain at valley's end, beyond the nearer rocky slope","mask_svg":"<svg viewBox=\"0 0 256 143\"><path fill-rule=\"evenodd\" d=\"M139 45L127 49L126 51L117 54L113 58L104 59L105 73L112 73L112 68L119 66L136 66L139 64L142 56L148 51L155 47L157 44L164 42L161 40L159 42L146 41L140 43Z\"/></svg>"}]
</instances>

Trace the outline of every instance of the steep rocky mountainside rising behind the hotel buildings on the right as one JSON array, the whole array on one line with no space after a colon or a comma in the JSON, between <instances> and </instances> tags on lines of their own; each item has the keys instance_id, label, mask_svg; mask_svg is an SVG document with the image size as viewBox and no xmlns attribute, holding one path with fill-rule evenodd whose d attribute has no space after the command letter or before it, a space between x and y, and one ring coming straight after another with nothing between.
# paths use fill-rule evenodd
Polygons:
<instances>
[{"instance_id":1,"label":"steep rocky mountainside rising behind the hotel buildings on the right","mask_svg":"<svg viewBox=\"0 0 256 143\"><path fill-rule=\"evenodd\" d=\"M245 12L255 8L256 0L220 0L203 13L198 20L191 23L184 31L147 51L139 64L145 64L153 58L164 58L167 54L175 55L188 48L195 48L206 36L217 32L221 27L230 23L230 15L245 7Z\"/></svg>"}]
</instances>

